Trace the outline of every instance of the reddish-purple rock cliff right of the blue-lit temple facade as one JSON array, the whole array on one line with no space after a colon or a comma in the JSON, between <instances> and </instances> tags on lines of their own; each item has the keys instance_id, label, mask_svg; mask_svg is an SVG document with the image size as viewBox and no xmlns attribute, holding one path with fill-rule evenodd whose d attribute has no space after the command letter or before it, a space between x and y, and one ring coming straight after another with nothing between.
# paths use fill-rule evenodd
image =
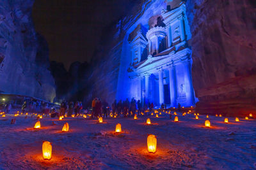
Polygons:
<instances>
[{"instance_id":1,"label":"reddish-purple rock cliff right of the blue-lit temple facade","mask_svg":"<svg viewBox=\"0 0 256 170\"><path fill-rule=\"evenodd\" d=\"M193 86L202 113L256 112L256 3L188 0Z\"/></svg>"}]
</instances>

